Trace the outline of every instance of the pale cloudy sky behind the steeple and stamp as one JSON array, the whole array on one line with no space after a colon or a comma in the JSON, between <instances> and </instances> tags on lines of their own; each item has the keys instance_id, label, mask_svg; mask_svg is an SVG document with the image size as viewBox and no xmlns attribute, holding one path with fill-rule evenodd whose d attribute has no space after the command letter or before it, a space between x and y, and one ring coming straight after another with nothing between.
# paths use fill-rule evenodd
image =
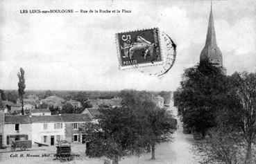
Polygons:
<instances>
[{"instance_id":1,"label":"pale cloudy sky behind the steeple and stamp","mask_svg":"<svg viewBox=\"0 0 256 164\"><path fill-rule=\"evenodd\" d=\"M174 91L205 46L210 1L0 2L0 88ZM228 75L256 72L256 2L213 1L216 40ZM20 10L131 10L131 13L24 14ZM163 77L119 70L114 34L158 27L177 45Z\"/></svg>"}]
</instances>

